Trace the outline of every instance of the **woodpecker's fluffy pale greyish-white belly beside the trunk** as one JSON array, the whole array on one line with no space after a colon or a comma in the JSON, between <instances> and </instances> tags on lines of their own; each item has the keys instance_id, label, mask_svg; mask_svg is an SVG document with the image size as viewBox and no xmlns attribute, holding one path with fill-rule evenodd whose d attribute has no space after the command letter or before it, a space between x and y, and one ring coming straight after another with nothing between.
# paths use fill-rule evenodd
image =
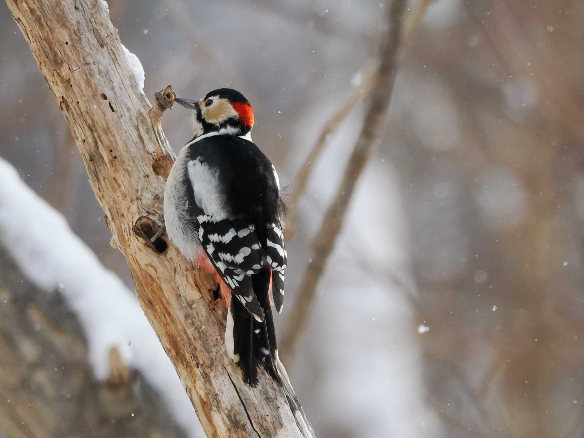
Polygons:
<instances>
[{"instance_id":1,"label":"woodpecker's fluffy pale greyish-white belly beside the trunk","mask_svg":"<svg viewBox=\"0 0 584 438\"><path fill-rule=\"evenodd\" d=\"M189 199L187 164L189 162L188 147L180 150L171 173L166 180L164 189L164 222L166 232L172 243L190 261L204 255L203 247L199 242L196 230L193 230L192 207L194 199ZM189 208L190 204L190 208Z\"/></svg>"}]
</instances>

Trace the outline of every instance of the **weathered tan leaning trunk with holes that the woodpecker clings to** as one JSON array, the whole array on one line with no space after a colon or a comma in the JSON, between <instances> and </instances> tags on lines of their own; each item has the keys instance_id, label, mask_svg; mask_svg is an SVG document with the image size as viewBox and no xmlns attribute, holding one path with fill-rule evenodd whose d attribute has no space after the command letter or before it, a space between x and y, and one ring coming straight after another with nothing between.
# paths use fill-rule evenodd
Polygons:
<instances>
[{"instance_id":1,"label":"weathered tan leaning trunk with holes that the woodpecker clings to","mask_svg":"<svg viewBox=\"0 0 584 438\"><path fill-rule=\"evenodd\" d=\"M81 151L112 246L126 256L138 300L207 435L314 436L283 367L283 387L263 371L258 388L243 383L225 352L226 312L213 301L214 280L194 270L172 245L144 244L156 228L144 224L161 222L174 154L148 114L150 103L128 68L103 3L6 3Z\"/></svg>"}]
</instances>

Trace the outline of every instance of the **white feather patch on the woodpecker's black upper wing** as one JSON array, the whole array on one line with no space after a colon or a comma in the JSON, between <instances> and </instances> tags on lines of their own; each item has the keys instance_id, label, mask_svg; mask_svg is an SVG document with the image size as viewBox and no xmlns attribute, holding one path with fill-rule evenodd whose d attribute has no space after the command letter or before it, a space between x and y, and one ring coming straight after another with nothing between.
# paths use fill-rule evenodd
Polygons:
<instances>
[{"instance_id":1,"label":"white feather patch on the woodpecker's black upper wing","mask_svg":"<svg viewBox=\"0 0 584 438\"><path fill-rule=\"evenodd\" d=\"M217 186L217 174L209 169L209 165L201 162L201 157L189 161L187 174L193 186L194 201L205 214L210 215L214 220L221 220L226 217L223 196L219 193Z\"/></svg>"}]
</instances>

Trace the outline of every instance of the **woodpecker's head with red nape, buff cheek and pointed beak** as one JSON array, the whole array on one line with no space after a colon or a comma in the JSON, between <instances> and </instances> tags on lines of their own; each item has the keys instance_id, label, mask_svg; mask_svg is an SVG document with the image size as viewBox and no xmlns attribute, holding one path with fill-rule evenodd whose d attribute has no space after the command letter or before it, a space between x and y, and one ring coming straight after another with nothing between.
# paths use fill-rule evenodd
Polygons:
<instances>
[{"instance_id":1,"label":"woodpecker's head with red nape, buff cheek and pointed beak","mask_svg":"<svg viewBox=\"0 0 584 438\"><path fill-rule=\"evenodd\" d=\"M253 127L253 110L248 99L231 88L213 90L197 102L176 98L193 113L194 138L209 133L245 135Z\"/></svg>"}]
</instances>

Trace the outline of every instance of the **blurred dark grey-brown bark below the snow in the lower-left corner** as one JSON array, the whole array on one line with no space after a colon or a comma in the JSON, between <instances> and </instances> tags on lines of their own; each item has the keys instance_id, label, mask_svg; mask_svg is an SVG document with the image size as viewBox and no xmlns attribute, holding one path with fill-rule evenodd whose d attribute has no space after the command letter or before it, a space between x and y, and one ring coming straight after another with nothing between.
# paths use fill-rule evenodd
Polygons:
<instances>
[{"instance_id":1,"label":"blurred dark grey-brown bark below the snow in the lower-left corner","mask_svg":"<svg viewBox=\"0 0 584 438\"><path fill-rule=\"evenodd\" d=\"M0 266L0 437L185 437L116 350L107 381L93 378L81 326L59 293L39 291L2 249Z\"/></svg>"}]
</instances>

